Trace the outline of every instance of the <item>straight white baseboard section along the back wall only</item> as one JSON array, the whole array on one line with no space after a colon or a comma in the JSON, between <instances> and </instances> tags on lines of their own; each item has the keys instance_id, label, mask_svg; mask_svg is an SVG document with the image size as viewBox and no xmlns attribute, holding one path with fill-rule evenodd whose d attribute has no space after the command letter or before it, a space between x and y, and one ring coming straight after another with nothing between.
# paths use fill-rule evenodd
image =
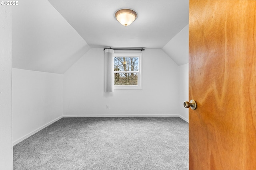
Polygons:
<instances>
[{"instance_id":1,"label":"straight white baseboard section along the back wall only","mask_svg":"<svg viewBox=\"0 0 256 170\"><path fill-rule=\"evenodd\" d=\"M180 117L180 115L63 115L63 117Z\"/></svg>"}]
</instances>

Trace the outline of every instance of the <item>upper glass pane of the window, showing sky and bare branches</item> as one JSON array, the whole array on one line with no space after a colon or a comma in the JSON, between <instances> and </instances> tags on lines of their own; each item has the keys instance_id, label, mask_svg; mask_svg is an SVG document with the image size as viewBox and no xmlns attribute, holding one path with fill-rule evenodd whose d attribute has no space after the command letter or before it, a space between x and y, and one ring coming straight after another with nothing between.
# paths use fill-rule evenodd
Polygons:
<instances>
[{"instance_id":1,"label":"upper glass pane of the window, showing sky and bare branches","mask_svg":"<svg viewBox=\"0 0 256 170\"><path fill-rule=\"evenodd\" d=\"M138 71L138 57L114 57L114 71Z\"/></svg>"}]
</instances>

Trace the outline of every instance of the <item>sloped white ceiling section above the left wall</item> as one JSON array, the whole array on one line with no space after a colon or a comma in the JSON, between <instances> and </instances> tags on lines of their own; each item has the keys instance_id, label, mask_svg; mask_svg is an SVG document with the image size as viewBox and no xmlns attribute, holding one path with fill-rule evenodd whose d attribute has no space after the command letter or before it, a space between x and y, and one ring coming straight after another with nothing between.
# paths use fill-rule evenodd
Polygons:
<instances>
[{"instance_id":1,"label":"sloped white ceiling section above the left wall","mask_svg":"<svg viewBox=\"0 0 256 170\"><path fill-rule=\"evenodd\" d=\"M47 0L12 8L13 67L63 74L90 47Z\"/></svg>"}]
</instances>

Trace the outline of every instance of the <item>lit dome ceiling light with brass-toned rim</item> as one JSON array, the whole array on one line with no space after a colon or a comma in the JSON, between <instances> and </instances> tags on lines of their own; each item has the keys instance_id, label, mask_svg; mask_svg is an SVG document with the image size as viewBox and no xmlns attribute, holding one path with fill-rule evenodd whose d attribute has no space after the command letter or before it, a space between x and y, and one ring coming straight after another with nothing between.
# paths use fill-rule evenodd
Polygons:
<instances>
[{"instance_id":1,"label":"lit dome ceiling light with brass-toned rim","mask_svg":"<svg viewBox=\"0 0 256 170\"><path fill-rule=\"evenodd\" d=\"M122 25L128 26L137 18L137 13L131 9L121 9L115 13L116 20Z\"/></svg>"}]
</instances>

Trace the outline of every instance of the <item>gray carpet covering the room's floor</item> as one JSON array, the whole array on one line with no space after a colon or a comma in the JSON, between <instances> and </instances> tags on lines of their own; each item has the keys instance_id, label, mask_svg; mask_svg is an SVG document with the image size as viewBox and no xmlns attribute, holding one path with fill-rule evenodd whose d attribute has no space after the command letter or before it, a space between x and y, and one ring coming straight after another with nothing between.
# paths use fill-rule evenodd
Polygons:
<instances>
[{"instance_id":1,"label":"gray carpet covering the room's floor","mask_svg":"<svg viewBox=\"0 0 256 170\"><path fill-rule=\"evenodd\" d=\"M188 170L179 117L62 118L13 147L14 170Z\"/></svg>"}]
</instances>

